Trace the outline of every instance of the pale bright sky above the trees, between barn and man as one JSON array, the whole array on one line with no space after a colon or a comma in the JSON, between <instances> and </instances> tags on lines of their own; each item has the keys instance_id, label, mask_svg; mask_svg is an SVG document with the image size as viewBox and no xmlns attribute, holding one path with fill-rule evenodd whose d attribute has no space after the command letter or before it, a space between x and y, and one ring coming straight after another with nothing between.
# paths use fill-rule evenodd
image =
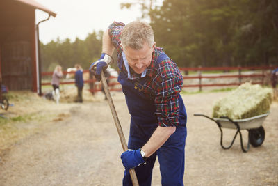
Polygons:
<instances>
[{"instance_id":1,"label":"pale bright sky above the trees, between barn and man","mask_svg":"<svg viewBox=\"0 0 278 186\"><path fill-rule=\"evenodd\" d=\"M76 37L84 40L93 31L104 31L113 21L129 23L141 17L139 8L121 10L124 0L36 0L42 6L56 13L40 24L40 41L65 40ZM47 13L36 10L36 22L48 17ZM147 21L147 20L145 20Z\"/></svg>"}]
</instances>

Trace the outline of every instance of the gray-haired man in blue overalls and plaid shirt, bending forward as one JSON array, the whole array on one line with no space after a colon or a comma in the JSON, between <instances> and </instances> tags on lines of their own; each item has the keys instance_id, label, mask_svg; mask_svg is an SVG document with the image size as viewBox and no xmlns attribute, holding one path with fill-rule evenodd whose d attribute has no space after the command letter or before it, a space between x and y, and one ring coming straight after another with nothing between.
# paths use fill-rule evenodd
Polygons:
<instances>
[{"instance_id":1,"label":"gray-haired man in blue overalls and plaid shirt, bending forward","mask_svg":"<svg viewBox=\"0 0 278 186\"><path fill-rule=\"evenodd\" d=\"M117 50L118 82L131 114L129 142L122 153L123 185L132 185L134 168L140 185L151 185L156 157L162 185L183 185L186 108L179 92L183 77L176 63L154 42L144 22L113 22L104 32L101 58L92 63L95 77L112 63Z\"/></svg>"}]
</instances>

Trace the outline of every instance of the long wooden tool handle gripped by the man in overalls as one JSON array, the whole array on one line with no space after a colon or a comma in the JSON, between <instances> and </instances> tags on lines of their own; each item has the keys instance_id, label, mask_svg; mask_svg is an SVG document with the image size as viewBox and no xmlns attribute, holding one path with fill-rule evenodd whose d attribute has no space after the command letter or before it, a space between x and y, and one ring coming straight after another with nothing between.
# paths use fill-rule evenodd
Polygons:
<instances>
[{"instance_id":1,"label":"long wooden tool handle gripped by the man in overalls","mask_svg":"<svg viewBox=\"0 0 278 186\"><path fill-rule=\"evenodd\" d=\"M113 116L114 121L115 121L115 125L116 125L116 128L117 128L117 133L119 134L120 141L121 141L121 144L122 144L122 149L124 151L126 151L127 150L126 139L124 138L124 132L122 132L122 127L121 127L119 118L117 117L117 112L116 112L116 109L114 107L111 94L108 90L108 85L107 85L107 82L106 82L106 78L104 76L104 71L101 71L101 82L102 82L102 86L104 88L104 93L105 93L105 95L107 97L107 100L108 100L108 104L109 104L110 109L111 109L112 116ZM131 180L132 180L133 186L139 186L134 169L129 169L129 173L131 175Z\"/></svg>"}]
</instances>

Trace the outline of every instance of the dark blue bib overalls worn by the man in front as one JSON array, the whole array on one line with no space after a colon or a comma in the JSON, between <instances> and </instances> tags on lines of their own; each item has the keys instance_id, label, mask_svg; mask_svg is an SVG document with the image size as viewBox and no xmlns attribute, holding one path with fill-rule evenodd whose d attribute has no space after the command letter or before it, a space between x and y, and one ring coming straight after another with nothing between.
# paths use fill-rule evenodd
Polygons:
<instances>
[{"instance_id":1,"label":"dark blue bib overalls worn by the man in front","mask_svg":"<svg viewBox=\"0 0 278 186\"><path fill-rule=\"evenodd\" d=\"M156 65L161 63L168 56L164 53L158 56ZM122 65L120 64L119 67ZM122 84L122 91L125 94L126 104L131 114L131 125L129 132L128 148L137 150L144 146L152 136L158 121L155 116L156 106L154 99L147 98L142 93L147 78L143 77L134 84L121 72L118 81ZM139 185L151 185L152 169L156 161L156 155L160 164L162 185L183 185L184 173L184 148L186 144L186 108L184 107L181 95L179 95L179 126L174 134L159 148L156 153L147 158L146 164L135 168ZM132 185L129 171L124 171L123 185Z\"/></svg>"}]
</instances>

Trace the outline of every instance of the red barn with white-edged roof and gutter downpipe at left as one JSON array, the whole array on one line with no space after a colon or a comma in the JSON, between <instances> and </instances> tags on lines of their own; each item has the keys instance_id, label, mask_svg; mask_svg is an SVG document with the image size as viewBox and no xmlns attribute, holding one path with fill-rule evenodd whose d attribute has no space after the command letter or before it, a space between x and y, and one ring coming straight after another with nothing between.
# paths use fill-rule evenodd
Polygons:
<instances>
[{"instance_id":1,"label":"red barn with white-edged roof and gutter downpipe at left","mask_svg":"<svg viewBox=\"0 0 278 186\"><path fill-rule=\"evenodd\" d=\"M40 23L35 24L35 9L56 16L35 0L0 1L0 72L10 90L40 92Z\"/></svg>"}]
</instances>

